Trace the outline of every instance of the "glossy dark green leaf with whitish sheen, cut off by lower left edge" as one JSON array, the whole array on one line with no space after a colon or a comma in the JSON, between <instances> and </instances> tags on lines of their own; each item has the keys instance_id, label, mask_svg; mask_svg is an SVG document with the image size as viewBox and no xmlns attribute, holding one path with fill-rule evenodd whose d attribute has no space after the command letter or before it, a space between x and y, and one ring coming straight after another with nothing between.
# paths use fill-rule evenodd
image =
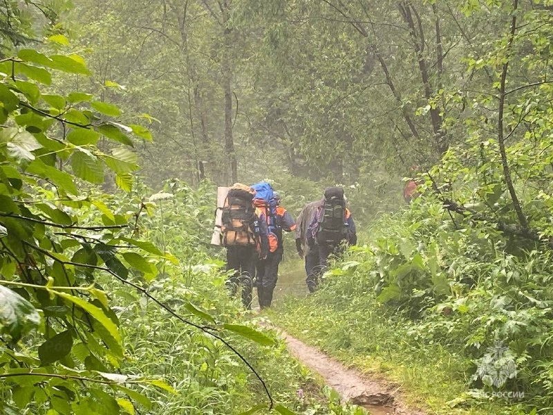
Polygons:
<instances>
[{"instance_id":1,"label":"glossy dark green leaf with whitish sheen, cut off by lower left edge","mask_svg":"<svg viewBox=\"0 0 553 415\"><path fill-rule=\"evenodd\" d=\"M36 308L15 291L0 286L0 326L3 333L18 342L22 335L35 329L40 323Z\"/></svg>"}]
</instances>

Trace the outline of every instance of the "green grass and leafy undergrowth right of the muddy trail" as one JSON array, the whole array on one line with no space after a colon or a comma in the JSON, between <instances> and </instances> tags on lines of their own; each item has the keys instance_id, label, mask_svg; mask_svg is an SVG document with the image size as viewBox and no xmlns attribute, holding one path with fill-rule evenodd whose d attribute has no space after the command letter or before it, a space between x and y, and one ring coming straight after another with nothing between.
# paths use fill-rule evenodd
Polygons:
<instances>
[{"instance_id":1,"label":"green grass and leafy undergrowth right of the muddy trail","mask_svg":"<svg viewBox=\"0 0 553 415\"><path fill-rule=\"evenodd\" d=\"M490 224L456 229L462 217L427 196L382 216L315 295L270 318L429 413L549 413L550 251Z\"/></svg>"}]
</instances>

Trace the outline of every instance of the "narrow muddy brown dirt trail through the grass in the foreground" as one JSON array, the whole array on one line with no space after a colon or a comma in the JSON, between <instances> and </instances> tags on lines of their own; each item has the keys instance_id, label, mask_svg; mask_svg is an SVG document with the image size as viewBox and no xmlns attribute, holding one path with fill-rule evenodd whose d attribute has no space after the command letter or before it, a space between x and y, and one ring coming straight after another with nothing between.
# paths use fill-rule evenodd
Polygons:
<instances>
[{"instance_id":1,"label":"narrow muddy brown dirt trail through the grass in the foreground","mask_svg":"<svg viewBox=\"0 0 553 415\"><path fill-rule=\"evenodd\" d=\"M319 374L326 385L335 389L344 401L364 407L373 415L424 415L424 412L407 409L391 385L365 378L359 372L347 369L325 353L293 338L277 327L267 323L262 325L277 329L292 356Z\"/></svg>"}]
</instances>

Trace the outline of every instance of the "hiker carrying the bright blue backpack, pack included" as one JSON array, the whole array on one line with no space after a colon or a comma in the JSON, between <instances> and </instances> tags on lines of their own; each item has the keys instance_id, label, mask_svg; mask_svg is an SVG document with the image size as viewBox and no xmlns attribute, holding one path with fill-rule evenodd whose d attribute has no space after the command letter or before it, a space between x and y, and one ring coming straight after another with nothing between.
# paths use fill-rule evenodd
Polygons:
<instances>
[{"instance_id":1,"label":"hiker carrying the bright blue backpack, pack included","mask_svg":"<svg viewBox=\"0 0 553 415\"><path fill-rule=\"evenodd\" d=\"M285 208L280 205L280 196L274 192L266 182L252 186L256 190L254 205L265 216L269 235L269 252L267 259L257 261L256 286L259 298L259 307L268 308L272 303L274 287L279 278L279 264L284 252L282 232L292 232L296 228L294 219Z\"/></svg>"}]
</instances>

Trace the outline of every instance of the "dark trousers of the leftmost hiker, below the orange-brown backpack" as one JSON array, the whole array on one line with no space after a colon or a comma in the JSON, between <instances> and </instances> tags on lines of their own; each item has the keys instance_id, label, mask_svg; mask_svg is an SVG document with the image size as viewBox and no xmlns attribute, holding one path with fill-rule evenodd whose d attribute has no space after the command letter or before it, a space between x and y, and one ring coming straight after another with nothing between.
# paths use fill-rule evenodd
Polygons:
<instances>
[{"instance_id":1,"label":"dark trousers of the leftmost hiker, below the orange-brown backpack","mask_svg":"<svg viewBox=\"0 0 553 415\"><path fill-rule=\"evenodd\" d=\"M227 270L234 270L229 277L232 295L236 294L238 285L242 285L242 302L248 310L252 308L252 278L255 273L257 251L253 246L229 246L227 248Z\"/></svg>"}]
</instances>

